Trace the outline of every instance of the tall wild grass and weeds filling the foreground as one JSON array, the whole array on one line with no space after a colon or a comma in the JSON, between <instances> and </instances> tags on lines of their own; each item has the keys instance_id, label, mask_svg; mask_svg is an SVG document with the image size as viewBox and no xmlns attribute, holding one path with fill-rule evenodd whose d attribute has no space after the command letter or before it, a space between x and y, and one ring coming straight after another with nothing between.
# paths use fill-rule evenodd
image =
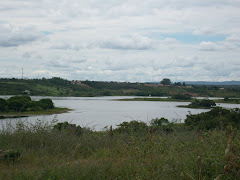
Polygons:
<instances>
[{"instance_id":1,"label":"tall wild grass and weeds filling the foreground","mask_svg":"<svg viewBox=\"0 0 240 180\"><path fill-rule=\"evenodd\" d=\"M139 130L81 135L53 131L56 122L37 122L0 132L0 179L236 179L239 130ZM1 152L1 151L0 151Z\"/></svg>"}]
</instances>

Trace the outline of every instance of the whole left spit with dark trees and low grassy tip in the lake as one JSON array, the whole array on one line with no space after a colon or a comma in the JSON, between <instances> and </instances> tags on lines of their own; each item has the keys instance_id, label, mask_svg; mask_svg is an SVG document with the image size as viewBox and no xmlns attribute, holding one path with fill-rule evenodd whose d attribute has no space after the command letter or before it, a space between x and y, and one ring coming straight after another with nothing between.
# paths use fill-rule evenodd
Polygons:
<instances>
[{"instance_id":1,"label":"whole left spit with dark trees and low grassy tip in the lake","mask_svg":"<svg viewBox=\"0 0 240 180\"><path fill-rule=\"evenodd\" d=\"M67 108L55 107L49 98L33 101L30 96L12 96L0 98L0 118L19 117L40 114L58 114L67 112Z\"/></svg>"}]
</instances>

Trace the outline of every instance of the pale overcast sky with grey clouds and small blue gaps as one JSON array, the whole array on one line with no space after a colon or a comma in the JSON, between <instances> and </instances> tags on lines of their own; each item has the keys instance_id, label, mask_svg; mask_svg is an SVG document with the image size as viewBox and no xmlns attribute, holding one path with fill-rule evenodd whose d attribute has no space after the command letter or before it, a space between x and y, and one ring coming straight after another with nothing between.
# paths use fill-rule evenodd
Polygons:
<instances>
[{"instance_id":1,"label":"pale overcast sky with grey clouds and small blue gaps","mask_svg":"<svg viewBox=\"0 0 240 180\"><path fill-rule=\"evenodd\" d=\"M1 0L0 78L240 80L240 0Z\"/></svg>"}]
</instances>

